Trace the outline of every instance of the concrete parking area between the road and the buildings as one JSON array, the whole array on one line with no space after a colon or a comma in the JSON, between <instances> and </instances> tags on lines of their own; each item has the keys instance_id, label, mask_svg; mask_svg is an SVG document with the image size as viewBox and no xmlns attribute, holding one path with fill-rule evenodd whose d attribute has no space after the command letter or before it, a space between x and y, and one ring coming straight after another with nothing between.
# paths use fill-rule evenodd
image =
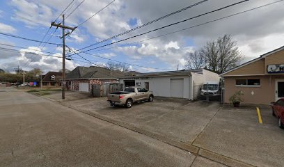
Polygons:
<instances>
[{"instance_id":1,"label":"concrete parking area between the road and the buildings","mask_svg":"<svg viewBox=\"0 0 284 167\"><path fill-rule=\"evenodd\" d=\"M45 96L51 97L56 95ZM166 97L134 104L131 109L109 106L105 97L60 103L228 166L284 164L284 131L278 128L269 106L258 106L260 124L256 106L248 105L233 108Z\"/></svg>"}]
</instances>

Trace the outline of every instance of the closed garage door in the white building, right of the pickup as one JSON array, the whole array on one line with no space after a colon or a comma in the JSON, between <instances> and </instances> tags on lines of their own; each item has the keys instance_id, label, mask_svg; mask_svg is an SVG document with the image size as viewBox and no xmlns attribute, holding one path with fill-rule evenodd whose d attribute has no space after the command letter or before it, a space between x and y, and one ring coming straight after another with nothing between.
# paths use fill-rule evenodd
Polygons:
<instances>
[{"instance_id":1,"label":"closed garage door in the white building, right of the pickup","mask_svg":"<svg viewBox=\"0 0 284 167\"><path fill-rule=\"evenodd\" d=\"M183 79L171 79L171 97L183 98Z\"/></svg>"}]
</instances>

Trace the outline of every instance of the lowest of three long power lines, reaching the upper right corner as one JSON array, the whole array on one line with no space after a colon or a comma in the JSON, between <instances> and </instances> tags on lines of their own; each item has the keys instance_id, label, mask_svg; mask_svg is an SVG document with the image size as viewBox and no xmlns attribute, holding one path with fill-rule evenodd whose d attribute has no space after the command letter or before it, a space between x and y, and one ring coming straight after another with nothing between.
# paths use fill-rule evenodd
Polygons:
<instances>
[{"instance_id":1,"label":"lowest of three long power lines, reaching the upper right corner","mask_svg":"<svg viewBox=\"0 0 284 167\"><path fill-rule=\"evenodd\" d=\"M281 2L281 1L284 1L284 0L275 1L275 2L271 2L271 3L267 3L267 4L265 4L265 5L258 6L258 7L255 7L255 8L251 8L251 9L248 9L248 10L244 10L244 11L239 12L239 13L234 13L234 14L232 14L232 15L227 15L227 16L225 16L225 17L220 17L219 19L213 19L213 20L211 20L211 21L204 22L204 23L202 23L202 24L196 24L196 25L194 25L194 26L190 26L190 27L187 27L187 28L185 28L185 29L180 29L180 30L178 30L178 31L172 31L172 32L170 32L170 33L165 33L165 34L163 34L163 35L157 35L157 36L155 36L155 37L148 38L148 39L145 39L145 40L139 40L139 41L136 41L136 42L127 43L127 44L125 44L125 45L116 46L116 47L109 47L109 48L99 49L99 50L95 50L95 51L103 51L103 50L113 49L113 48L117 48L117 47L132 45L132 44L135 44L135 43L144 42L144 41L152 40L152 39L155 39L155 38L161 38L161 37L166 36L166 35L171 35L171 34L173 34L173 33L178 33L178 32L180 32L180 31L186 31L186 30L189 30L189 29L198 27L198 26L203 26L203 25L205 25L205 24L210 24L210 23L212 23L212 22L217 22L217 21L219 21L219 20L221 20L221 19L226 19L226 18L228 18L228 17L233 17L233 16L235 16L235 15L240 15L240 14L242 14L242 13L246 13L246 12L249 12L249 11L251 11L251 10L255 10L255 9L258 9L258 8L263 8L263 7L265 7L265 6L270 6L270 5L274 4L274 3L279 3L279 2Z\"/></svg>"}]
</instances>

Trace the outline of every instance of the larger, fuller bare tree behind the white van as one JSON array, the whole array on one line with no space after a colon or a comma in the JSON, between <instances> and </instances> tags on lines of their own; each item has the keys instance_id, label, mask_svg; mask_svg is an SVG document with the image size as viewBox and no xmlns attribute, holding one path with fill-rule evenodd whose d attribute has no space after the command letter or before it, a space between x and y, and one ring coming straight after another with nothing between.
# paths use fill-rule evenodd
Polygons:
<instances>
[{"instance_id":1,"label":"larger, fuller bare tree behind the white van","mask_svg":"<svg viewBox=\"0 0 284 167\"><path fill-rule=\"evenodd\" d=\"M221 74L236 67L242 61L237 42L230 35L223 35L216 41L207 42L200 52L206 59L208 70Z\"/></svg>"}]
</instances>

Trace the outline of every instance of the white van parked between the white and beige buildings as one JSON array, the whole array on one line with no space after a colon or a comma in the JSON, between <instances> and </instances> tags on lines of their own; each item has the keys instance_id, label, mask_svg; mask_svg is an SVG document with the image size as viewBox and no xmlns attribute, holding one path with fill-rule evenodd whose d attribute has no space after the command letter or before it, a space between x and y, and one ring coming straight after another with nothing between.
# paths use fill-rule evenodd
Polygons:
<instances>
[{"instance_id":1,"label":"white van parked between the white and beige buildings","mask_svg":"<svg viewBox=\"0 0 284 167\"><path fill-rule=\"evenodd\" d=\"M221 95L219 81L207 81L201 88L201 95L203 96L217 96Z\"/></svg>"}]
</instances>

